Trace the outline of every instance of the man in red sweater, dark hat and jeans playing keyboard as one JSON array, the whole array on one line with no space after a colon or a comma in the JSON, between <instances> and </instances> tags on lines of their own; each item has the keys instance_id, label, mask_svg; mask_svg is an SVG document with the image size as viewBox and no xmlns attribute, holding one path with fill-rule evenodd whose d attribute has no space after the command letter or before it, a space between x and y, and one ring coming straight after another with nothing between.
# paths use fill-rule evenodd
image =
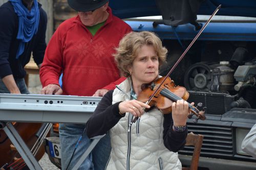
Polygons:
<instances>
[{"instance_id":1,"label":"man in red sweater, dark hat and jeans playing keyboard","mask_svg":"<svg viewBox=\"0 0 256 170\"><path fill-rule=\"evenodd\" d=\"M112 54L119 40L132 29L112 15L108 0L68 0L68 3L79 12L61 23L47 46L40 69L41 94L103 96L124 80ZM62 89L58 83L61 72ZM62 169L67 169L84 128L84 125L59 125ZM89 144L90 139L84 134L68 169ZM110 138L106 135L80 169L104 169L110 148Z\"/></svg>"}]
</instances>

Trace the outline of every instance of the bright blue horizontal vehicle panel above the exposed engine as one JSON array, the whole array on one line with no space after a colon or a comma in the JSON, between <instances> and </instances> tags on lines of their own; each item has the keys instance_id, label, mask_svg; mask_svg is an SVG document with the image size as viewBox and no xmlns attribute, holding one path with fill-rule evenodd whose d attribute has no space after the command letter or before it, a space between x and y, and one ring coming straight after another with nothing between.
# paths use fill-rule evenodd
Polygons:
<instances>
[{"instance_id":1,"label":"bright blue horizontal vehicle panel above the exposed engine","mask_svg":"<svg viewBox=\"0 0 256 170\"><path fill-rule=\"evenodd\" d=\"M134 31L152 31L157 33L162 39L180 38L182 40L193 40L199 32L195 31L195 27L190 23L178 27L161 24L156 28L153 27L153 21L126 21L126 23L128 23ZM256 41L256 22L212 22L205 28L198 40Z\"/></svg>"}]
</instances>

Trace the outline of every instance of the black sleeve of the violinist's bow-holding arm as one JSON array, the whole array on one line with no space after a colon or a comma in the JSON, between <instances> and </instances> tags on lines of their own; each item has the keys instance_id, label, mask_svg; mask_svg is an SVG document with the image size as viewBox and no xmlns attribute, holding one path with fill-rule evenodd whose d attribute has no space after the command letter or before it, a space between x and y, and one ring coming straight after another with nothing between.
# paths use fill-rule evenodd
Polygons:
<instances>
[{"instance_id":1,"label":"black sleeve of the violinist's bow-holding arm","mask_svg":"<svg viewBox=\"0 0 256 170\"><path fill-rule=\"evenodd\" d=\"M86 133L89 138L103 135L113 128L123 116L119 114L119 103L112 105L113 91L108 91L87 121Z\"/></svg>"}]
</instances>

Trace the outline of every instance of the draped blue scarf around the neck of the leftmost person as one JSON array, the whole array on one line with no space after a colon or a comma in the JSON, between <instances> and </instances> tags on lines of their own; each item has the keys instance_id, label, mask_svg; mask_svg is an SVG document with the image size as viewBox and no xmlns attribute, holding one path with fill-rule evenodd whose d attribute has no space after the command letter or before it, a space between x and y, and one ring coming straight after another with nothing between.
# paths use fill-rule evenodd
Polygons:
<instances>
[{"instance_id":1,"label":"draped blue scarf around the neck of the leftmost person","mask_svg":"<svg viewBox=\"0 0 256 170\"><path fill-rule=\"evenodd\" d=\"M36 34L39 24L39 9L36 0L29 11L22 3L22 0L9 0L18 16L18 35L19 41L16 59L24 52L25 42L28 42Z\"/></svg>"}]
</instances>

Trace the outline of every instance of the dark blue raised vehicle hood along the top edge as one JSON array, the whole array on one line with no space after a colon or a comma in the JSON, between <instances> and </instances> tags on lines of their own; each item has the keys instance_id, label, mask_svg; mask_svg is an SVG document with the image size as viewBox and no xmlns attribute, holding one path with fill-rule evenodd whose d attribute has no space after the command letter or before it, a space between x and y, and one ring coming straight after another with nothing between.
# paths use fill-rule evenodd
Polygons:
<instances>
[{"instance_id":1,"label":"dark blue raised vehicle hood along the top edge","mask_svg":"<svg viewBox=\"0 0 256 170\"><path fill-rule=\"evenodd\" d=\"M184 2L191 3L191 6L194 3L193 1ZM206 0L202 2L198 15L211 15L219 5L222 5L222 8L217 15L256 17L254 0ZM120 18L160 15L155 0L110 1L110 7Z\"/></svg>"}]
</instances>

